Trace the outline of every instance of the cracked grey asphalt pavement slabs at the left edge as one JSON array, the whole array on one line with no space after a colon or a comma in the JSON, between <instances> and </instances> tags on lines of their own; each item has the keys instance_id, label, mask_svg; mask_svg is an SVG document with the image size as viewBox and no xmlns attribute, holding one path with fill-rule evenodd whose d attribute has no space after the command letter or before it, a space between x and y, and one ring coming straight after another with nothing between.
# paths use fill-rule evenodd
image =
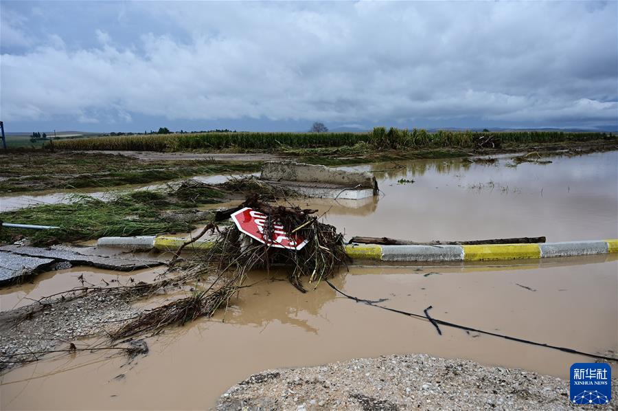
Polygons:
<instances>
[{"instance_id":1,"label":"cracked grey asphalt pavement slabs at the left edge","mask_svg":"<svg viewBox=\"0 0 618 411\"><path fill-rule=\"evenodd\" d=\"M135 258L130 254L102 254L104 252L95 247L5 245L0 247L0 283L45 271L62 262L71 266L85 265L114 271L133 271L165 264L165 260Z\"/></svg>"}]
</instances>

